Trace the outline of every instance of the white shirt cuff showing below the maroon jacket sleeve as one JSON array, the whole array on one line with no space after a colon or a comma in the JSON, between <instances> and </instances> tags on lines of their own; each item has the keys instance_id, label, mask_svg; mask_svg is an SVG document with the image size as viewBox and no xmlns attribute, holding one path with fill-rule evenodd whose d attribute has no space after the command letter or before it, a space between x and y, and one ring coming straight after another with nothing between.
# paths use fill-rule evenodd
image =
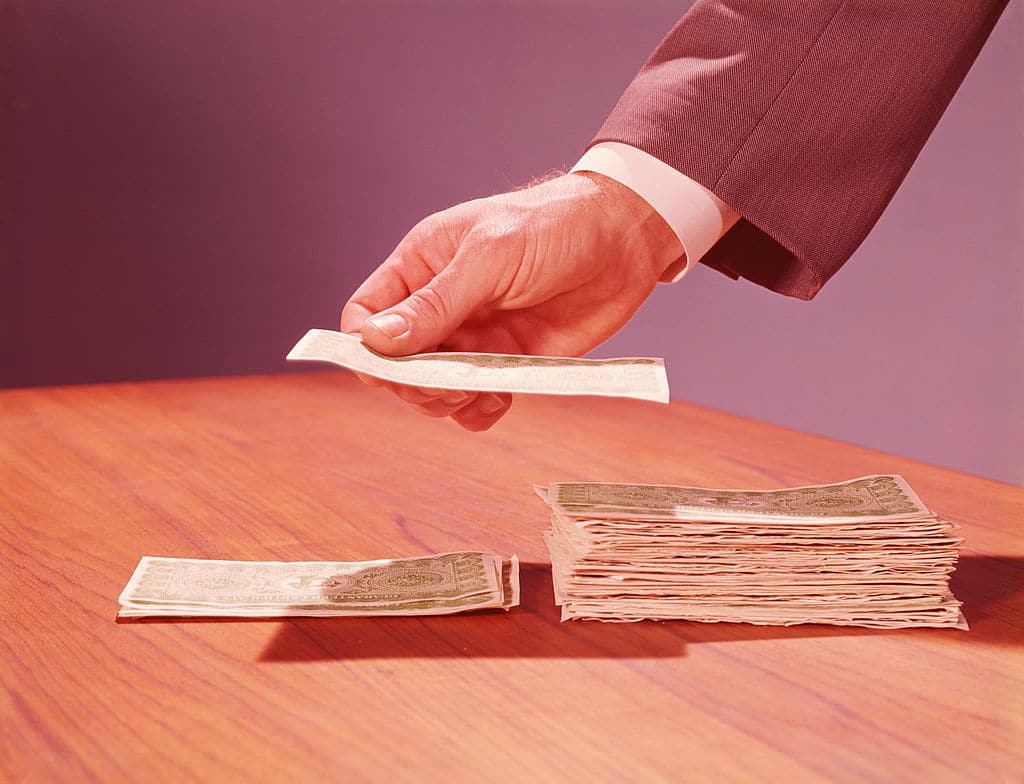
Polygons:
<instances>
[{"instance_id":1,"label":"white shirt cuff showing below the maroon jacket sleeve","mask_svg":"<svg viewBox=\"0 0 1024 784\"><path fill-rule=\"evenodd\" d=\"M729 205L699 182L664 161L618 141L602 141L586 153L573 172L596 172L633 190L665 218L686 255L671 265L660 282L674 284L739 220Z\"/></svg>"}]
</instances>

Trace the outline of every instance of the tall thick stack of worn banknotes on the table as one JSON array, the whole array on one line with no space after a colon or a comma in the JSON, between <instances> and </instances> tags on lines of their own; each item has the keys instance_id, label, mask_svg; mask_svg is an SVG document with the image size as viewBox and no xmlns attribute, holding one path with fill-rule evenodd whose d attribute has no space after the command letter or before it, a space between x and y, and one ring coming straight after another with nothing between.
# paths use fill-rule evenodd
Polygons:
<instances>
[{"instance_id":1,"label":"tall thick stack of worn banknotes on the table","mask_svg":"<svg viewBox=\"0 0 1024 784\"><path fill-rule=\"evenodd\" d=\"M536 490L562 620L967 627L948 584L962 539L899 476Z\"/></svg>"}]
</instances>

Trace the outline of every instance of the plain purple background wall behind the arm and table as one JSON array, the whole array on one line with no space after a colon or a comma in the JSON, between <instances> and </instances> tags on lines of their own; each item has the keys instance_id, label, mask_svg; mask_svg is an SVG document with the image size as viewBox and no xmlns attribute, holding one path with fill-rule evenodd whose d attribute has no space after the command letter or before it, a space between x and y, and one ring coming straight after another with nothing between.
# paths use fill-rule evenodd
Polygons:
<instances>
[{"instance_id":1,"label":"plain purple background wall behind the arm and table","mask_svg":"<svg viewBox=\"0 0 1024 784\"><path fill-rule=\"evenodd\" d=\"M685 5L0 0L0 384L284 369L421 217L571 164ZM1024 482L1022 40L812 303L698 268L596 353Z\"/></svg>"}]
</instances>

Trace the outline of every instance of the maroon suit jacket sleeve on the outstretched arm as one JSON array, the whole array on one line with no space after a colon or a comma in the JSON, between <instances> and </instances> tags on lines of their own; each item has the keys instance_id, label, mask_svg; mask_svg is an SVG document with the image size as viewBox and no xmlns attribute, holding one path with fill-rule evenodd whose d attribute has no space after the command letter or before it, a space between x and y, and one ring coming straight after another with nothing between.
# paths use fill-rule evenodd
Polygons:
<instances>
[{"instance_id":1,"label":"maroon suit jacket sleeve on the outstretched arm","mask_svg":"<svg viewBox=\"0 0 1024 784\"><path fill-rule=\"evenodd\" d=\"M593 143L639 147L740 220L702 261L810 299L867 235L1007 0L698 0Z\"/></svg>"}]
</instances>

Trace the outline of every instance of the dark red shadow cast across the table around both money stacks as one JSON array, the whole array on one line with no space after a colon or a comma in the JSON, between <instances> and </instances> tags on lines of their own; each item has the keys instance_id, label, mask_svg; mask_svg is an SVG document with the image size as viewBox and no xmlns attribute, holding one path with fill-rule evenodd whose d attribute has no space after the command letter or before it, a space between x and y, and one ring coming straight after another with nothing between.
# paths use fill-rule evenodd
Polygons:
<instances>
[{"instance_id":1,"label":"dark red shadow cast across the table around both money stacks","mask_svg":"<svg viewBox=\"0 0 1024 784\"><path fill-rule=\"evenodd\" d=\"M411 618L296 618L282 624L260 655L264 662L390 658L672 658L686 645L833 637L932 637L1014 645L1024 559L964 556L952 589L971 631L869 629L808 624L560 622L552 601L551 567L520 568L522 604L512 612ZM1012 608L1017 606L1018 610Z\"/></svg>"}]
</instances>

